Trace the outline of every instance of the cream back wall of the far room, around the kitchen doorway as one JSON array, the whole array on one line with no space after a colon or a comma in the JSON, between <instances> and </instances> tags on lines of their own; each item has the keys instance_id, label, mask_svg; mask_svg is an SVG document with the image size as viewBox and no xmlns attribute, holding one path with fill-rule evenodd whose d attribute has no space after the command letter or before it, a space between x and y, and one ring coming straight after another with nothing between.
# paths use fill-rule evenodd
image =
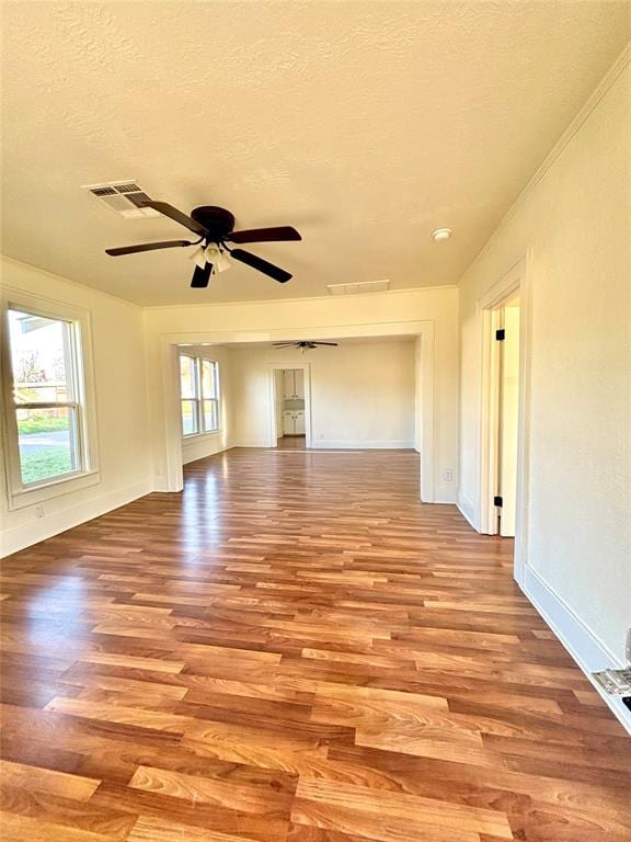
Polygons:
<instances>
[{"instance_id":1,"label":"cream back wall of the far room, around the kitchen doorway","mask_svg":"<svg viewBox=\"0 0 631 842\"><path fill-rule=\"evenodd\" d=\"M413 447L414 342L342 343L301 354L265 346L231 350L240 395L232 442L269 436L269 364L308 363L314 447Z\"/></svg>"}]
</instances>

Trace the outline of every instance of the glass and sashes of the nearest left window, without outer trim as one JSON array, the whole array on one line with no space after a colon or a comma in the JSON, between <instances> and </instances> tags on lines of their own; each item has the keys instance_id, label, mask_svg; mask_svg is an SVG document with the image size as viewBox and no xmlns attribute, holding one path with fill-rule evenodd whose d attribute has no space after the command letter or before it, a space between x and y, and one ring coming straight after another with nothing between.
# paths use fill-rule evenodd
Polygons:
<instances>
[{"instance_id":1,"label":"glass and sashes of the nearest left window, without outer trim","mask_svg":"<svg viewBox=\"0 0 631 842\"><path fill-rule=\"evenodd\" d=\"M73 326L9 310L9 340L24 486L81 468L74 385Z\"/></svg>"}]
</instances>

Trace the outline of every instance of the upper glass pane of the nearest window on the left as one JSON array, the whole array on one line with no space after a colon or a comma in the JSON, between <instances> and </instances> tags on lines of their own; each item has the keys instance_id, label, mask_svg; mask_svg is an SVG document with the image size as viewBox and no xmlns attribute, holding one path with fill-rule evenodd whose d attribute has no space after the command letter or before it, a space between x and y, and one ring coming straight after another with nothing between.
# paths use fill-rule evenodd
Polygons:
<instances>
[{"instance_id":1,"label":"upper glass pane of the nearest window on the left","mask_svg":"<svg viewBox=\"0 0 631 842\"><path fill-rule=\"evenodd\" d=\"M9 310L9 333L15 401L71 401L69 322Z\"/></svg>"}]
</instances>

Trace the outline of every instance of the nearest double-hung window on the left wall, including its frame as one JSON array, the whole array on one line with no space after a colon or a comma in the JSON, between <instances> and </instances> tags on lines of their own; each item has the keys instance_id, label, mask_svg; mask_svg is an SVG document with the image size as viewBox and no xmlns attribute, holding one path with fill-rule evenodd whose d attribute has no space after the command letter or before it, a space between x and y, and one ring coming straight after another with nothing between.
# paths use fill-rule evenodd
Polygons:
<instances>
[{"instance_id":1,"label":"nearest double-hung window on the left wall, including its frame","mask_svg":"<svg viewBox=\"0 0 631 842\"><path fill-rule=\"evenodd\" d=\"M7 322L10 494L24 494L25 505L53 496L32 492L94 474L88 447L81 318L9 305Z\"/></svg>"}]
</instances>

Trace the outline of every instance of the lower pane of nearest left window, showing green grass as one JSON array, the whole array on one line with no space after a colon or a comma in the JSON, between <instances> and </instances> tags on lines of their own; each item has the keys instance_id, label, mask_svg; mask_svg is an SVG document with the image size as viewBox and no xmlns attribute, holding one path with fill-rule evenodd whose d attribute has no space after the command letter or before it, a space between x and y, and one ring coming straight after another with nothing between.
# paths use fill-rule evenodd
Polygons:
<instances>
[{"instance_id":1,"label":"lower pane of nearest left window, showing green grass","mask_svg":"<svg viewBox=\"0 0 631 842\"><path fill-rule=\"evenodd\" d=\"M19 409L16 412L20 469L24 485L78 469L74 409Z\"/></svg>"}]
</instances>

